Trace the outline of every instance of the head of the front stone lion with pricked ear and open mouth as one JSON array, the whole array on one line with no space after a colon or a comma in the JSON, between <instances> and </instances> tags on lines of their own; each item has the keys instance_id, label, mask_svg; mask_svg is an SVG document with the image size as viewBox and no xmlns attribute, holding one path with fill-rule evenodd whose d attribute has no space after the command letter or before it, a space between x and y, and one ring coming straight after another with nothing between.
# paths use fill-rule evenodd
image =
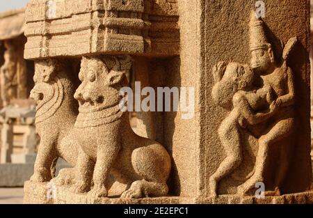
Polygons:
<instances>
[{"instance_id":1,"label":"head of the front stone lion with pricked ear and open mouth","mask_svg":"<svg viewBox=\"0 0 313 218\"><path fill-rule=\"evenodd\" d=\"M74 98L79 101L79 111L93 112L113 107L120 103L120 88L127 85L125 73L131 68L129 56L83 57Z\"/></svg>"}]
</instances>

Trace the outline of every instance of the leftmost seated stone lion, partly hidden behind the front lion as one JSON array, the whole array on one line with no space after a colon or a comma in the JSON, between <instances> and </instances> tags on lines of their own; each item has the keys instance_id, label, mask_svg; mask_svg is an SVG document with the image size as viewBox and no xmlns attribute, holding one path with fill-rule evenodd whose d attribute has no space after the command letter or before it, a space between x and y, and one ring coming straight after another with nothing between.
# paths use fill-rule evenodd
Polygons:
<instances>
[{"instance_id":1,"label":"leftmost seated stone lion, partly hidden behind the front lion","mask_svg":"<svg viewBox=\"0 0 313 218\"><path fill-rule=\"evenodd\" d=\"M77 161L77 145L64 147L61 143L73 129L77 118L77 102L73 98L76 86L67 71L65 63L54 59L35 63L35 86L31 98L38 104L35 124L40 136L31 177L35 182L46 182L54 177L53 169L58 157L72 166Z\"/></svg>"}]
</instances>

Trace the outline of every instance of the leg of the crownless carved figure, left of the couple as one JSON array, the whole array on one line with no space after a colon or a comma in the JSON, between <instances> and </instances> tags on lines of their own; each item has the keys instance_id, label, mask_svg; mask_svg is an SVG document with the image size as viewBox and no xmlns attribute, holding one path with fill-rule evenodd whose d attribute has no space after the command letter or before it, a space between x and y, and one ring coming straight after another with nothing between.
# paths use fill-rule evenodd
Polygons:
<instances>
[{"instance_id":1,"label":"leg of the crownless carved figure, left of the couple","mask_svg":"<svg viewBox=\"0 0 313 218\"><path fill-rule=\"evenodd\" d=\"M234 109L235 110L235 109ZM211 196L216 196L218 182L232 173L242 161L241 136L238 116L236 111L232 111L218 129L218 136L226 153L226 158L220 163L216 172L209 179Z\"/></svg>"}]
</instances>

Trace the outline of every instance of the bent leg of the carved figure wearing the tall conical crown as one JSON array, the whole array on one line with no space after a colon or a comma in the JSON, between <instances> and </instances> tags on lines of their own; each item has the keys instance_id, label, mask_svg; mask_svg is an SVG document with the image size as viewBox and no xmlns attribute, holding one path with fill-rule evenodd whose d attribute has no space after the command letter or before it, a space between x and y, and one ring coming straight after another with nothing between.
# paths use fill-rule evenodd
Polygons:
<instances>
[{"instance_id":1,"label":"bent leg of the carved figure wearing the tall conical crown","mask_svg":"<svg viewBox=\"0 0 313 218\"><path fill-rule=\"evenodd\" d=\"M259 138L259 150L257 151L257 158L255 160L255 173L243 185L237 188L239 194L246 194L250 189L255 187L257 182L263 182L264 169L268 158L268 146L284 139L294 130L294 118L280 120L271 130Z\"/></svg>"}]
</instances>

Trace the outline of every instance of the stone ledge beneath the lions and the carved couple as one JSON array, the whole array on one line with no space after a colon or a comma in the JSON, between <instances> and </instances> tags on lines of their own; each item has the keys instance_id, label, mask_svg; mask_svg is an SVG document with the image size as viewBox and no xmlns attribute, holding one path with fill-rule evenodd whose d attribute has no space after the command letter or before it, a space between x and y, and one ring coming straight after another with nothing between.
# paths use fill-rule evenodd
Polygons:
<instances>
[{"instance_id":1,"label":"stone ledge beneath the lions and the carved couple","mask_svg":"<svg viewBox=\"0 0 313 218\"><path fill-rule=\"evenodd\" d=\"M254 196L222 195L218 198L186 198L166 196L161 198L89 198L86 194L73 194L68 187L55 187L54 193L48 183L27 181L24 185L24 203L45 204L302 204L313 203L313 191L282 196L266 196L257 199ZM51 189L50 189L51 190ZM47 198L49 196L49 198Z\"/></svg>"}]
</instances>

